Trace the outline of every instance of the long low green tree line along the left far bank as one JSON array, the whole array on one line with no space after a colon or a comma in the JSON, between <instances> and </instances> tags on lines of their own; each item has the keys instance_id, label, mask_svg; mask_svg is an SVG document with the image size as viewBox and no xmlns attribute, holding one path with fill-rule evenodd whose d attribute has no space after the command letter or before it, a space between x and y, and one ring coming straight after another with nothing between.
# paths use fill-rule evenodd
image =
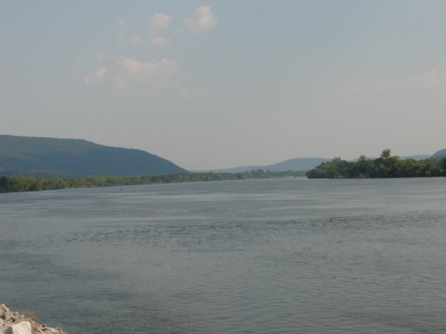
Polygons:
<instances>
[{"instance_id":1,"label":"long low green tree line along the left far bank","mask_svg":"<svg viewBox=\"0 0 446 334\"><path fill-rule=\"evenodd\" d=\"M270 172L252 170L245 173L190 173L142 176L89 176L76 178L56 178L54 180L37 180L22 176L1 176L0 193L17 191L41 191L56 189L92 188L98 186L134 186L137 184L164 184L185 182L209 182L224 180L266 179L275 177L299 177L305 172Z\"/></svg>"}]
</instances>

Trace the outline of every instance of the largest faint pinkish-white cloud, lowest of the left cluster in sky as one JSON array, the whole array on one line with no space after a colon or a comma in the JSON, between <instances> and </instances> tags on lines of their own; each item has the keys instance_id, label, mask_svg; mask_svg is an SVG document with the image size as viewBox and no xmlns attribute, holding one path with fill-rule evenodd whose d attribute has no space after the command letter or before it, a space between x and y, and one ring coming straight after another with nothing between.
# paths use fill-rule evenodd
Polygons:
<instances>
[{"instance_id":1,"label":"largest faint pinkish-white cloud, lowest of the left cluster in sky","mask_svg":"<svg viewBox=\"0 0 446 334\"><path fill-rule=\"evenodd\" d=\"M154 93L173 85L178 71L178 63L162 59L141 63L131 58L119 58L116 85L132 91Z\"/></svg>"}]
</instances>

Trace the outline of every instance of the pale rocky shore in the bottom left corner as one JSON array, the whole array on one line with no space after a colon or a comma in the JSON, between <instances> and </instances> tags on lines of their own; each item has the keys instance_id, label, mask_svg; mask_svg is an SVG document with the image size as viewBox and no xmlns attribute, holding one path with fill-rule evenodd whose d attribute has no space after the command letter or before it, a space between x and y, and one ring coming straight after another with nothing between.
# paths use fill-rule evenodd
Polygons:
<instances>
[{"instance_id":1,"label":"pale rocky shore in the bottom left corner","mask_svg":"<svg viewBox=\"0 0 446 334\"><path fill-rule=\"evenodd\" d=\"M61 328L38 324L33 312L11 312L5 304L0 305L0 334L68 334Z\"/></svg>"}]
</instances>

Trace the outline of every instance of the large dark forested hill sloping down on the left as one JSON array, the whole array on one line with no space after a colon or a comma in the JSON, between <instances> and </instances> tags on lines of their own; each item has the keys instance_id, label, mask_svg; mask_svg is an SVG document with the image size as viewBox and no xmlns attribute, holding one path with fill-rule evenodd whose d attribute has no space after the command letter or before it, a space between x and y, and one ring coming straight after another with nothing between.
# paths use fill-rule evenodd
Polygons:
<instances>
[{"instance_id":1,"label":"large dark forested hill sloping down on the left","mask_svg":"<svg viewBox=\"0 0 446 334\"><path fill-rule=\"evenodd\" d=\"M142 150L82 139L0 135L0 175L155 175L189 173Z\"/></svg>"}]
</instances>

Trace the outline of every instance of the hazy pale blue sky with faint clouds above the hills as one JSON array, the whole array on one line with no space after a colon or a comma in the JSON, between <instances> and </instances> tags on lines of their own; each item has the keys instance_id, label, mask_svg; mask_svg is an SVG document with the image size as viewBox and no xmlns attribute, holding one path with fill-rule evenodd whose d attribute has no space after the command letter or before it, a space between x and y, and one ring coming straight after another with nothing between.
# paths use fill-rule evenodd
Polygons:
<instances>
[{"instance_id":1,"label":"hazy pale blue sky with faint clouds above the hills","mask_svg":"<svg viewBox=\"0 0 446 334\"><path fill-rule=\"evenodd\" d=\"M0 134L189 170L446 148L446 1L0 1Z\"/></svg>"}]
</instances>

